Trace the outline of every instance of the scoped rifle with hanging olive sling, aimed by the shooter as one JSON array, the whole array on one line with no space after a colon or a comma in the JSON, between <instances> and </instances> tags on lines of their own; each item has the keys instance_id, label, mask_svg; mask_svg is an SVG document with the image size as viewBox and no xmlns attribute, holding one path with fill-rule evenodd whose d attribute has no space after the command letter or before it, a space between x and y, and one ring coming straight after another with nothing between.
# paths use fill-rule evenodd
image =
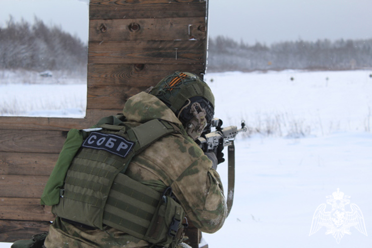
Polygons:
<instances>
[{"instance_id":1,"label":"scoped rifle with hanging olive sling, aimed by the shooter","mask_svg":"<svg viewBox=\"0 0 372 248\"><path fill-rule=\"evenodd\" d=\"M214 151L217 152L219 146L228 146L228 193L227 193L227 214L230 213L234 200L234 187L235 187L235 146L234 139L240 132L247 131L245 121L242 121L242 128L238 129L237 126L231 125L222 128L222 121L220 119L213 119L212 127L216 131L211 132L209 128L203 133L195 142L200 146L204 152Z\"/></svg>"}]
</instances>

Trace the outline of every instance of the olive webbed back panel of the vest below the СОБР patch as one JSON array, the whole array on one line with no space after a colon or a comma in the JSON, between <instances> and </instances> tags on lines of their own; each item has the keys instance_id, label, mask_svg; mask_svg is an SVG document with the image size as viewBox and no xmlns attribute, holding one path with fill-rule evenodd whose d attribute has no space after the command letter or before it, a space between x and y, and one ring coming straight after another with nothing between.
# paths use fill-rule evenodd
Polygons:
<instances>
[{"instance_id":1,"label":"olive webbed back panel of the vest below the \u0421\u041e\u0411\u0420 patch","mask_svg":"<svg viewBox=\"0 0 372 248\"><path fill-rule=\"evenodd\" d=\"M105 150L82 147L65 178L60 203L53 213L59 217L102 229L103 210L113 181L133 156L126 158Z\"/></svg>"}]
</instances>

